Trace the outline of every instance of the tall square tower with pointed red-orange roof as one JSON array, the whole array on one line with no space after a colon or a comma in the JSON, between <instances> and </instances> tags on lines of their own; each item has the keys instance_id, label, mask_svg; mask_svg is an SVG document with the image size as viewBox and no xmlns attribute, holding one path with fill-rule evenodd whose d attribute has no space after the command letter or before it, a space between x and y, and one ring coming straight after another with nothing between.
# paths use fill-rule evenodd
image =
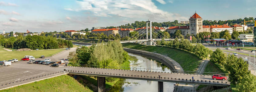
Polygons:
<instances>
[{"instance_id":1,"label":"tall square tower with pointed red-orange roof","mask_svg":"<svg viewBox=\"0 0 256 92\"><path fill-rule=\"evenodd\" d=\"M189 29L190 35L203 32L203 18L200 17L197 12L189 18Z\"/></svg>"}]
</instances>

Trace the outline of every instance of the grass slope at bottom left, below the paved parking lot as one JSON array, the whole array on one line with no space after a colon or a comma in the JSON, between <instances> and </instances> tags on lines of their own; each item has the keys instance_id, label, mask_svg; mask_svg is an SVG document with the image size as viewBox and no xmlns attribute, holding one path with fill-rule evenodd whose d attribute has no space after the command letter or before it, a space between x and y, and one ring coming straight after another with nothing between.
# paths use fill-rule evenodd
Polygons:
<instances>
[{"instance_id":1,"label":"grass slope at bottom left, below the paved parking lot","mask_svg":"<svg viewBox=\"0 0 256 92\"><path fill-rule=\"evenodd\" d=\"M68 75L41 80L0 92L93 92Z\"/></svg>"}]
</instances>

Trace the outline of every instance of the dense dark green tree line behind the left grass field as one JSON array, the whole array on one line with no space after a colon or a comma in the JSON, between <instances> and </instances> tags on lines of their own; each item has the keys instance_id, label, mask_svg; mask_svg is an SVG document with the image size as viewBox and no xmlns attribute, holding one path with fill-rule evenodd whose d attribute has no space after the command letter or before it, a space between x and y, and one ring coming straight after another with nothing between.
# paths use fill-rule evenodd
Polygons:
<instances>
[{"instance_id":1,"label":"dense dark green tree line behind the left grass field","mask_svg":"<svg viewBox=\"0 0 256 92\"><path fill-rule=\"evenodd\" d=\"M52 36L17 36L10 38L1 38L1 43L5 48L29 48L29 49L56 49L73 47L69 40L56 39Z\"/></svg>"}]
</instances>

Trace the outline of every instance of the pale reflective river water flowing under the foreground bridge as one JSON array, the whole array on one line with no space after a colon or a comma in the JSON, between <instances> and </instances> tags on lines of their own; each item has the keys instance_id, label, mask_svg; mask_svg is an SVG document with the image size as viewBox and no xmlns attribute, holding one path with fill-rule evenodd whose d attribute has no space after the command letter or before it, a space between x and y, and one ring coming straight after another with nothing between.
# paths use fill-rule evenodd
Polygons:
<instances>
[{"instance_id":1,"label":"pale reflective river water flowing under the foreground bridge","mask_svg":"<svg viewBox=\"0 0 256 92\"><path fill-rule=\"evenodd\" d=\"M128 55L131 57L131 59L129 60L131 62L130 67L170 70L165 65L163 65L160 62L157 62L154 59L150 59L147 57L143 57L143 56L135 55L131 53L128 53ZM171 82L163 82L164 92L173 92L174 84L175 83L171 83ZM136 79L125 79L123 88L124 88L123 92L157 92L158 82L136 80Z\"/></svg>"}]
</instances>

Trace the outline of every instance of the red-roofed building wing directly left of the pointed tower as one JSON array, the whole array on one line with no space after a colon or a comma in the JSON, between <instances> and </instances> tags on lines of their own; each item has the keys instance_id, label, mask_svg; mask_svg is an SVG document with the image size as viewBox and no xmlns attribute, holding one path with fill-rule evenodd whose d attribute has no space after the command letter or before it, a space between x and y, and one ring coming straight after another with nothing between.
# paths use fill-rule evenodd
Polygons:
<instances>
[{"instance_id":1,"label":"red-roofed building wing directly left of the pointed tower","mask_svg":"<svg viewBox=\"0 0 256 92\"><path fill-rule=\"evenodd\" d=\"M176 30L181 30L181 35L184 37L189 34L189 26L172 26L166 29L169 34L174 34Z\"/></svg>"}]
</instances>

